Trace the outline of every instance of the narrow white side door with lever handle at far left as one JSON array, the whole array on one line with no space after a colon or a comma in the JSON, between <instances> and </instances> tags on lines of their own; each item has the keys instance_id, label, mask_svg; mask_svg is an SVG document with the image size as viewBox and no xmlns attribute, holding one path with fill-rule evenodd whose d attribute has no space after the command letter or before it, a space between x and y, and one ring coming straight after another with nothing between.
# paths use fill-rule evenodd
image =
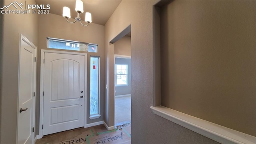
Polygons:
<instances>
[{"instance_id":1,"label":"narrow white side door with lever handle at far left","mask_svg":"<svg viewBox=\"0 0 256 144\"><path fill-rule=\"evenodd\" d=\"M18 89L18 144L34 144L34 92L36 92L36 46L21 35ZM26 40L26 42L24 41ZM27 43L28 42L28 43Z\"/></svg>"}]
</instances>

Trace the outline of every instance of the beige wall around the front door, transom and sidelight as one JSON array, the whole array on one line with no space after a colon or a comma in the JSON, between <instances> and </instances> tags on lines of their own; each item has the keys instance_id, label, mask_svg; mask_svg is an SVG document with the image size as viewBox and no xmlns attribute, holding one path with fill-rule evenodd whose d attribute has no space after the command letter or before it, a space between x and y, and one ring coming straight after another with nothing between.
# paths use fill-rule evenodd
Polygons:
<instances>
[{"instance_id":1,"label":"beige wall around the front door, transom and sidelight","mask_svg":"<svg viewBox=\"0 0 256 144\"><path fill-rule=\"evenodd\" d=\"M100 115L98 119L90 120L90 109L87 109L87 124L103 120L104 107L104 26L91 23L84 27L79 22L69 24L62 16L55 14L42 14L39 20L39 44L38 44L38 75L37 88L38 96L40 92L40 50L46 48L46 38L60 38L64 40L74 40L79 42L88 42L98 44L98 53L87 52L87 106L90 106L90 56L100 56ZM51 49L54 50L54 49ZM74 52L74 51L72 51ZM37 117L36 117L36 133L39 129L39 104L37 99ZM42 126L40 126L41 128Z\"/></svg>"}]
</instances>

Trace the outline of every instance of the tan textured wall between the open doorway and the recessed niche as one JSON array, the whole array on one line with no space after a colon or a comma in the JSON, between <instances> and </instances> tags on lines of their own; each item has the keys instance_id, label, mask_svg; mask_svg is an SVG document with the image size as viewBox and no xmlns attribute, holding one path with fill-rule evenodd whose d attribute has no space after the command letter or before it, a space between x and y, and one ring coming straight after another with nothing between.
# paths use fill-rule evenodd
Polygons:
<instances>
[{"instance_id":1,"label":"tan textured wall between the open doorway and the recessed niche","mask_svg":"<svg viewBox=\"0 0 256 144\"><path fill-rule=\"evenodd\" d=\"M104 120L114 125L114 50L109 41L131 24L132 144L217 144L200 134L161 118L153 105L153 5L156 1L123 0L105 25L106 90Z\"/></svg>"}]
</instances>

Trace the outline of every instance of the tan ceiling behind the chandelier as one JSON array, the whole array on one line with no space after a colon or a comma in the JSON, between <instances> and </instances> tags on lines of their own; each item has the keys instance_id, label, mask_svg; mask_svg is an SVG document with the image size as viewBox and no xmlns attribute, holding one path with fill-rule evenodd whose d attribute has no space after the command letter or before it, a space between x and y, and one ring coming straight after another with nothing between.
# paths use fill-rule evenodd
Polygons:
<instances>
[{"instance_id":1,"label":"tan ceiling behind the chandelier","mask_svg":"<svg viewBox=\"0 0 256 144\"><path fill-rule=\"evenodd\" d=\"M63 6L70 8L71 18L77 16L75 11L76 0L35 0L36 4L50 4L50 13L62 16ZM84 20L85 12L92 14L92 23L105 25L110 16L116 10L121 0L82 0L84 3L84 12L80 18Z\"/></svg>"}]
</instances>

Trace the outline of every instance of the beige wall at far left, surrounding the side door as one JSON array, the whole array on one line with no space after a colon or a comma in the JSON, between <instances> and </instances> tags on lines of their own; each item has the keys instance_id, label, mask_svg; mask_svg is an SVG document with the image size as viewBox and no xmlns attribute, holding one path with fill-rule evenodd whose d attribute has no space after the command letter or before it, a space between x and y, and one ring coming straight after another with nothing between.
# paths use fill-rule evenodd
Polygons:
<instances>
[{"instance_id":1,"label":"beige wall at far left, surrounding the side door","mask_svg":"<svg viewBox=\"0 0 256 144\"><path fill-rule=\"evenodd\" d=\"M10 2L1 1L1 6ZM20 33L38 46L38 18L37 14L1 15L1 144L16 143Z\"/></svg>"}]
</instances>

